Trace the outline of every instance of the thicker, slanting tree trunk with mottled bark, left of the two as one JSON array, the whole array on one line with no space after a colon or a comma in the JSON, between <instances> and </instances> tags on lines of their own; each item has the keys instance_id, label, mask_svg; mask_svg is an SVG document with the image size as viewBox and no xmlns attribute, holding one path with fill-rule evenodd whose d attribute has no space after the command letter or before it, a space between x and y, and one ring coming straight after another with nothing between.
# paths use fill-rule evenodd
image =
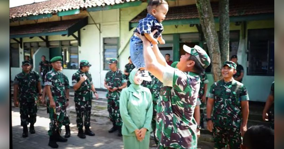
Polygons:
<instances>
[{"instance_id":1,"label":"thicker, slanting tree trunk with mottled bark, left of the two","mask_svg":"<svg viewBox=\"0 0 284 149\"><path fill-rule=\"evenodd\" d=\"M211 4L209 0L196 0L196 6L211 59L214 81L218 81L222 79L222 64L220 58L219 40L215 29Z\"/></svg>"}]
</instances>

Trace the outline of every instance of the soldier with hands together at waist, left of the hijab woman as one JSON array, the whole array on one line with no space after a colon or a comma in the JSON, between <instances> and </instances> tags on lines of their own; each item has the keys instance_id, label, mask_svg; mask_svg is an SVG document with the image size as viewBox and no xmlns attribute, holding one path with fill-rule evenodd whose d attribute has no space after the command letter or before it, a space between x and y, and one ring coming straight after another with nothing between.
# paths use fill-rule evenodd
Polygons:
<instances>
[{"instance_id":1,"label":"soldier with hands together at waist, left of the hijab woman","mask_svg":"<svg viewBox=\"0 0 284 149\"><path fill-rule=\"evenodd\" d=\"M108 64L110 71L106 73L104 86L108 90L106 93L106 98L108 100L107 108L110 121L113 125L108 132L113 133L118 130L118 136L121 137L122 119L119 112L119 97L121 90L127 86L127 80L122 71L116 67L116 59L110 59Z\"/></svg>"}]
</instances>

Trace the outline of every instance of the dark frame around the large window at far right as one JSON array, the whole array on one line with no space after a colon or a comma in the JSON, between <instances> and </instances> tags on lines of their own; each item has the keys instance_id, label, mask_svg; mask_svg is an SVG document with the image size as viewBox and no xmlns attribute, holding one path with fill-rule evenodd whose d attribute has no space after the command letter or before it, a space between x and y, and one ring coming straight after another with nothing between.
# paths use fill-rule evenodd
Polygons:
<instances>
[{"instance_id":1,"label":"dark frame around the large window at far right","mask_svg":"<svg viewBox=\"0 0 284 149\"><path fill-rule=\"evenodd\" d=\"M249 56L250 56L250 42L249 42L249 31L251 30L275 30L275 28L258 28L258 29L248 29L247 30L247 66L246 66L246 70L247 70L247 75L250 75L250 76L274 76L274 74L256 74L256 73L250 73L249 72ZM273 32L274 34L274 32ZM272 40L267 40L268 42L268 48L267 49L267 62L268 62L268 66L269 66L269 50L270 50L270 45L269 45L269 42L272 42ZM274 38L273 38L273 42L275 42ZM274 47L275 48L275 47ZM275 49L274 49L275 51ZM275 62L275 58L274 58L274 62ZM274 65L274 70L275 70L275 65ZM275 72L275 71L274 71Z\"/></svg>"}]
</instances>

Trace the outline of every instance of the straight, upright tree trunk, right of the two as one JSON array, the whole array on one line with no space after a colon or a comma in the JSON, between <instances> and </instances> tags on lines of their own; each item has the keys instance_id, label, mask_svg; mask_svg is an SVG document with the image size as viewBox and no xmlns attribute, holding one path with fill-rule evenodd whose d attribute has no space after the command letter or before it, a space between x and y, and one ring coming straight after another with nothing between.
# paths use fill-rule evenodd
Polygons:
<instances>
[{"instance_id":1,"label":"straight, upright tree trunk, right of the two","mask_svg":"<svg viewBox=\"0 0 284 149\"><path fill-rule=\"evenodd\" d=\"M230 21L229 21L229 0L219 1L219 22L220 22L220 52L221 63L229 60L229 33L230 33Z\"/></svg>"}]
</instances>

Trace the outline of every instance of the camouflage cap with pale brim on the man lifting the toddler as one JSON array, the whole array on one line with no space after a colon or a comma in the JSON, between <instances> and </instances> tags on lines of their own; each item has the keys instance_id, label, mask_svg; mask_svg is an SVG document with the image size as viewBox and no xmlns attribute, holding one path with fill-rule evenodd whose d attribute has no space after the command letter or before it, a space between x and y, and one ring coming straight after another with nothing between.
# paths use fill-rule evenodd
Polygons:
<instances>
[{"instance_id":1,"label":"camouflage cap with pale brim on the man lifting the toddler","mask_svg":"<svg viewBox=\"0 0 284 149\"><path fill-rule=\"evenodd\" d=\"M210 57L198 45L195 45L194 48L183 45L183 50L191 55L194 55L204 69L210 65Z\"/></svg>"}]
</instances>

